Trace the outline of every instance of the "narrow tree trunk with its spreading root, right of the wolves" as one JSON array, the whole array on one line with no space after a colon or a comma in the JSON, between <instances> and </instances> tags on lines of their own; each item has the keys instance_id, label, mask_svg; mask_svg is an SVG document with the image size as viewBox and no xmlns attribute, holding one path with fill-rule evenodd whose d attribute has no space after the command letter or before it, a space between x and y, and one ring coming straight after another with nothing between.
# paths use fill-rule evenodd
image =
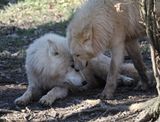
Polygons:
<instances>
[{"instance_id":1,"label":"narrow tree trunk with its spreading root, right of the wolves","mask_svg":"<svg viewBox=\"0 0 160 122\"><path fill-rule=\"evenodd\" d=\"M158 96L144 103L130 106L132 111L142 111L136 121L156 121L160 115L160 35L159 24L155 15L156 0L142 0L142 17L146 25L146 33L150 39L151 59L154 76L157 83ZM160 118L159 118L160 120Z\"/></svg>"}]
</instances>

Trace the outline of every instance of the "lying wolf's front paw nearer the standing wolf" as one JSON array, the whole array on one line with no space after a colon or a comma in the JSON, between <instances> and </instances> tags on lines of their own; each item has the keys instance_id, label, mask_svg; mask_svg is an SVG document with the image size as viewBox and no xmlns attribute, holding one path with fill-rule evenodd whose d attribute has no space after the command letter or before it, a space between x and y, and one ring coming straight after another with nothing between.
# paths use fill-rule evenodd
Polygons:
<instances>
[{"instance_id":1,"label":"lying wolf's front paw nearer the standing wolf","mask_svg":"<svg viewBox=\"0 0 160 122\"><path fill-rule=\"evenodd\" d=\"M44 105L44 106L51 106L55 100L51 97L48 97L47 95L43 96L40 100L39 103Z\"/></svg>"}]
</instances>

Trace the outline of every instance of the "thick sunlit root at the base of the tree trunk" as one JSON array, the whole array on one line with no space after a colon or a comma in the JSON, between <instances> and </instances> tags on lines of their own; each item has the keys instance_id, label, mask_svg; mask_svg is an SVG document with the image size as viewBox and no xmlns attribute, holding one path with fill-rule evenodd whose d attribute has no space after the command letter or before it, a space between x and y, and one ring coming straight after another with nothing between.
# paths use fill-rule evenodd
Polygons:
<instances>
[{"instance_id":1,"label":"thick sunlit root at the base of the tree trunk","mask_svg":"<svg viewBox=\"0 0 160 122\"><path fill-rule=\"evenodd\" d=\"M136 122L156 121L160 115L160 96L143 103L136 103L130 106L131 111L141 111Z\"/></svg>"}]
</instances>

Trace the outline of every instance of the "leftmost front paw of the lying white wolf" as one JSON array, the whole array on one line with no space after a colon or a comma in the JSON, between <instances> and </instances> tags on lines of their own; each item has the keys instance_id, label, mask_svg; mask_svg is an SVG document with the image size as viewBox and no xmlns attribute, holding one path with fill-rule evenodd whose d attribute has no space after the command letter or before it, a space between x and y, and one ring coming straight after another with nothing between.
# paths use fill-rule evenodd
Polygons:
<instances>
[{"instance_id":1,"label":"leftmost front paw of the lying white wolf","mask_svg":"<svg viewBox=\"0 0 160 122\"><path fill-rule=\"evenodd\" d=\"M21 96L21 97L17 98L17 99L14 101L14 103L15 103L16 105L20 105L20 106L25 106L25 105L27 105L29 102L30 102L30 99L27 98L27 97L24 97L24 96Z\"/></svg>"}]
</instances>

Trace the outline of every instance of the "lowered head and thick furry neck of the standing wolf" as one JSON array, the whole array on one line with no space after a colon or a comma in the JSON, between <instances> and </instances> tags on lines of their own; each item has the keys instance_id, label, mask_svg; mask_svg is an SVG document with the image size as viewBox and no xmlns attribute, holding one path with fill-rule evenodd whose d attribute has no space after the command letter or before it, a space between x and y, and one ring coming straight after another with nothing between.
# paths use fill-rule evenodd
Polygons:
<instances>
[{"instance_id":1,"label":"lowered head and thick furry neck of the standing wolf","mask_svg":"<svg viewBox=\"0 0 160 122\"><path fill-rule=\"evenodd\" d=\"M106 34L103 32L105 9L101 4L102 1L87 1L68 25L67 39L77 69L82 70L89 60L106 49Z\"/></svg>"}]
</instances>

